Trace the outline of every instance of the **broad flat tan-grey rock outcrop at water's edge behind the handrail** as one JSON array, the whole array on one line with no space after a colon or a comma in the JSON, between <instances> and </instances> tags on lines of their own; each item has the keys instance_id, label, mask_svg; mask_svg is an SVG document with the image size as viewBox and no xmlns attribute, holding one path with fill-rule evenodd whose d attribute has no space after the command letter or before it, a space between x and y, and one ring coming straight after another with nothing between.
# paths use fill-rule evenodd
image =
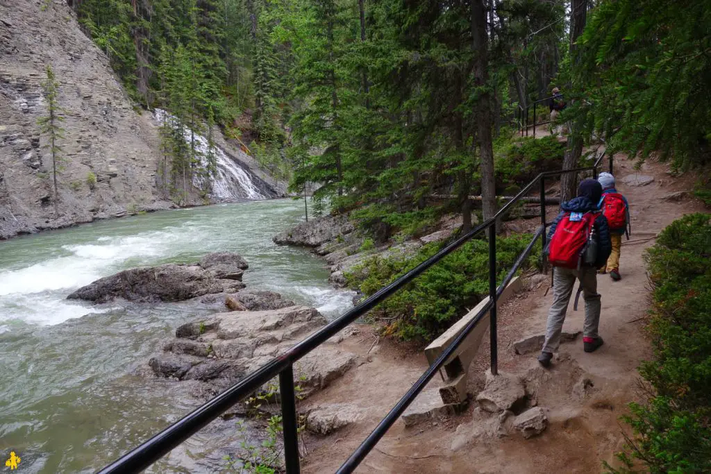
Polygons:
<instances>
[{"instance_id":1,"label":"broad flat tan-grey rock outcrop at water's edge behind the handrail","mask_svg":"<svg viewBox=\"0 0 711 474\"><path fill-rule=\"evenodd\" d=\"M308 306L219 313L179 326L176 338L162 344L163 352L151 357L149 367L159 377L207 382L214 390L205 393L214 394L324 324L326 318ZM294 363L299 397L326 387L358 362L357 356L335 343L319 346Z\"/></svg>"}]
</instances>

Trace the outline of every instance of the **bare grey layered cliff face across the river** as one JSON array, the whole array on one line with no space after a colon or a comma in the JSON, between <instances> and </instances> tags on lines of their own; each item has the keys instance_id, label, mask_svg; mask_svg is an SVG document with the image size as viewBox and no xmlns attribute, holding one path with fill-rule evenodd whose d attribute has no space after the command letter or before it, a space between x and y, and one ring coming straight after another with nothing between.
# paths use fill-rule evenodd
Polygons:
<instances>
[{"instance_id":1,"label":"bare grey layered cliff face across the river","mask_svg":"<svg viewBox=\"0 0 711 474\"><path fill-rule=\"evenodd\" d=\"M60 83L65 117L58 217L52 160L37 124L46 114L46 65ZM173 207L159 190L158 126L150 112L134 109L107 56L82 33L65 1L0 0L0 239ZM218 144L236 163L239 151L222 137ZM283 185L251 159L241 157L240 166L262 196L283 194ZM203 203L197 193L192 201L187 204Z\"/></svg>"}]
</instances>

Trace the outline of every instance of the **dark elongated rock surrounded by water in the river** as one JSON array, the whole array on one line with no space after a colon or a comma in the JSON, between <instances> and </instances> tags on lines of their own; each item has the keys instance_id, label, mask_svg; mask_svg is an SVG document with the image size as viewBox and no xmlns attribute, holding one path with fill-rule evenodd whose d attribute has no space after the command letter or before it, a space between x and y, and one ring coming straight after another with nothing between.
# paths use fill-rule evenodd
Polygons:
<instances>
[{"instance_id":1,"label":"dark elongated rock surrounded by water in the river","mask_svg":"<svg viewBox=\"0 0 711 474\"><path fill-rule=\"evenodd\" d=\"M68 299L106 303L128 301L183 301L208 293L231 293L245 288L242 274L247 262L237 254L206 255L197 264L164 264L120 271L83 286Z\"/></svg>"}]
</instances>

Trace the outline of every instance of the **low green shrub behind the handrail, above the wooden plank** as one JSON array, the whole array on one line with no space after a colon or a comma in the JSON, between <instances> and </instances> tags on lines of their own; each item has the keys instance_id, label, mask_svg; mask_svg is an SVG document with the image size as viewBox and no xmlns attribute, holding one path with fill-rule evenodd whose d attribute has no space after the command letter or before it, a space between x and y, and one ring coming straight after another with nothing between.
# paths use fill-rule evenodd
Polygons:
<instances>
[{"instance_id":1,"label":"low green shrub behind the handrail, above the wooden plank","mask_svg":"<svg viewBox=\"0 0 711 474\"><path fill-rule=\"evenodd\" d=\"M501 282L531 235L496 239L496 264ZM349 286L370 296L436 254L442 244L428 244L417 254L373 257L346 274ZM534 252L540 249L535 247ZM530 257L535 262L538 254ZM429 342L488 295L488 242L473 240L449 254L370 314L387 321L386 335Z\"/></svg>"}]
</instances>

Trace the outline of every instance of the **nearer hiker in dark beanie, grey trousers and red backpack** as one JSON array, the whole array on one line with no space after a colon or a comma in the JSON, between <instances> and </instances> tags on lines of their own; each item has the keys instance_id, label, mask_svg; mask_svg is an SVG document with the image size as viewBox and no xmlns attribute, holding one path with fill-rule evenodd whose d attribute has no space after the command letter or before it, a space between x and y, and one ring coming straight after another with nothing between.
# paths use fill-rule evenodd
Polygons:
<instances>
[{"instance_id":1,"label":"nearer hiker in dark beanie, grey trousers and red backpack","mask_svg":"<svg viewBox=\"0 0 711 474\"><path fill-rule=\"evenodd\" d=\"M602 345L597 333L600 322L600 295L597 293L597 269L611 252L607 219L599 212L602 185L586 179L578 187L577 198L560 205L561 212L550 226L545 254L553 266L553 303L548 312L545 342L538 356L543 367L550 367L553 352L560 345L560 332L570 302L575 280L580 281L585 300L583 348L593 352Z\"/></svg>"}]
</instances>

